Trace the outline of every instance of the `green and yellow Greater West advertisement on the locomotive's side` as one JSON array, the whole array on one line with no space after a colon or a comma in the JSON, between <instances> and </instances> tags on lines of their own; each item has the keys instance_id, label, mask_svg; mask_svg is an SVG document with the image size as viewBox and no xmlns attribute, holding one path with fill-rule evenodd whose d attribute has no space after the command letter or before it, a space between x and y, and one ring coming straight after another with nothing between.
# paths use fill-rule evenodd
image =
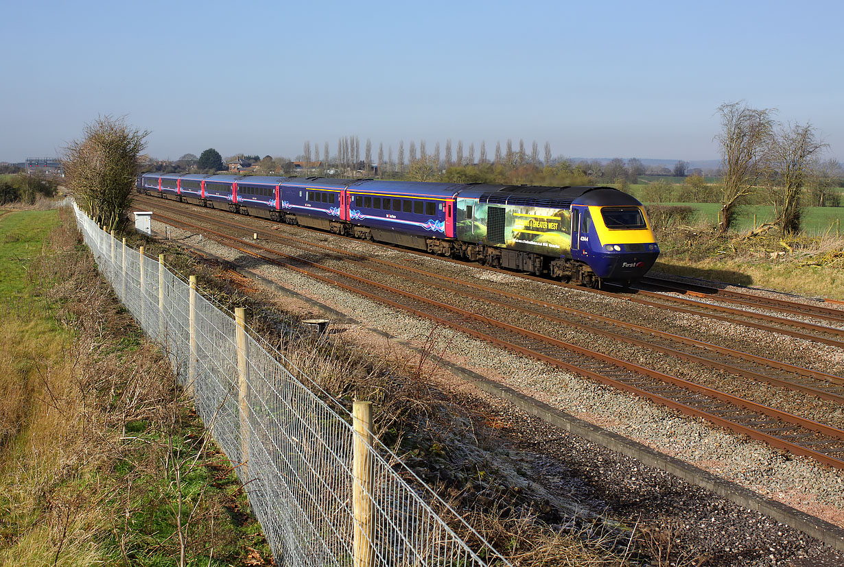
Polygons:
<instances>
[{"instance_id":1,"label":"green and yellow Greater West advertisement on the locomotive's side","mask_svg":"<svg viewBox=\"0 0 844 567\"><path fill-rule=\"evenodd\" d=\"M571 211L457 199L457 238L544 256L571 250Z\"/></svg>"}]
</instances>

